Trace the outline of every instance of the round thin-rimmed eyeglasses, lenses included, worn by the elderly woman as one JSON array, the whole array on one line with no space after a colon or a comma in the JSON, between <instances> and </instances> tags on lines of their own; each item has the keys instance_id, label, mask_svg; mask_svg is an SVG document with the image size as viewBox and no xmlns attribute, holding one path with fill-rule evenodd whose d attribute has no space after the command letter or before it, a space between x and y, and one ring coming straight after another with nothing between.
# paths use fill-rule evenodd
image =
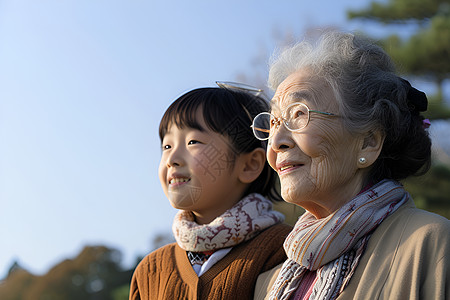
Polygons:
<instances>
[{"instance_id":1,"label":"round thin-rimmed eyeglasses, lenses included, worn by the elderly woman","mask_svg":"<svg viewBox=\"0 0 450 300\"><path fill-rule=\"evenodd\" d=\"M258 140L265 141L273 135L275 129L281 126L281 123L290 131L299 132L308 126L312 112L327 116L337 116L329 112L311 110L306 104L295 102L286 107L281 113L281 117L276 117L268 112L258 114L253 119L251 126L253 128L253 134Z\"/></svg>"}]
</instances>

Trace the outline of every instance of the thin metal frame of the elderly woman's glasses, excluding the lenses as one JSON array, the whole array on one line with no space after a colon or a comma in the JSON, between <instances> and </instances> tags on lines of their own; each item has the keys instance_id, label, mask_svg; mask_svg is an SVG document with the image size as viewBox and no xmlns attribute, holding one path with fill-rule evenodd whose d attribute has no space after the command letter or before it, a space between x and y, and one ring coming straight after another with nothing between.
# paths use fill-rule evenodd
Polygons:
<instances>
[{"instance_id":1,"label":"thin metal frame of the elderly woman's glasses, excluding the lenses","mask_svg":"<svg viewBox=\"0 0 450 300\"><path fill-rule=\"evenodd\" d=\"M286 118L283 118L283 114L284 114L289 108L291 108L291 107L294 106L294 105L302 105L302 106L304 106L304 107L306 108L306 110L308 111L308 119L306 120L305 126L303 126L302 128L298 128L298 129L291 129L291 128L289 128L289 122L288 122L288 120L287 120ZM275 125L275 129L280 128L281 124L283 124L284 127L286 127L286 129L289 130L289 131L291 131L291 132L300 132L300 131L303 130L306 126L308 126L309 121L311 120L311 113L312 113L312 112L318 113L318 114L321 114L321 115L326 115L326 116L338 116L337 114L330 113L330 112L325 112L325 111L319 111L319 110L309 109L308 105L306 105L305 103L302 103L302 102L294 102L294 103L288 105L288 106L281 112L281 116L280 116L280 117L277 117L277 116L275 116L274 114L269 113L269 112L262 112L262 113L259 113L255 118L253 118L253 122L252 122L252 125L251 125L250 127L253 129L253 135L254 135L258 140L260 140L260 141L265 141L265 140L270 139L270 138L273 136L273 133L274 133L275 130L263 129L263 128L258 128L258 129L256 129L257 127L255 127L255 120L256 120L256 118L258 118L259 116L261 116L261 115L268 115L268 116L271 117L271 118L273 117L273 120L274 120L274 121L271 121L271 122L273 122L273 124ZM269 135L268 135L267 138L260 138L260 137L258 137L258 135L256 134L257 131L258 131L258 132L266 132L266 133L268 133Z\"/></svg>"}]
</instances>

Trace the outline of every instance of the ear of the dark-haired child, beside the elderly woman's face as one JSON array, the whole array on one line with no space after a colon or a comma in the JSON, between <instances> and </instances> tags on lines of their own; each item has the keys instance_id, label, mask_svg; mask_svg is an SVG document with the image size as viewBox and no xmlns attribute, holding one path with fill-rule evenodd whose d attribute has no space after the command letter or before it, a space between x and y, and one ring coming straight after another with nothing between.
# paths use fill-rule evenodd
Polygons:
<instances>
[{"instance_id":1,"label":"ear of the dark-haired child, beside the elderly woman's face","mask_svg":"<svg viewBox=\"0 0 450 300\"><path fill-rule=\"evenodd\" d=\"M242 183L251 183L261 174L266 164L266 152L256 148L252 152L241 154L239 180Z\"/></svg>"}]
</instances>

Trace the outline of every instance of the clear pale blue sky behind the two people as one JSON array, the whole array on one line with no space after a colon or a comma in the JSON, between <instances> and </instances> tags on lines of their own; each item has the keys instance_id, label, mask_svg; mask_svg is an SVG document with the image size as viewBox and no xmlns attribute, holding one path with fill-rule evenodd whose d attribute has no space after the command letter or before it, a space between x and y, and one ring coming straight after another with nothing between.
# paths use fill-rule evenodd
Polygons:
<instances>
[{"instance_id":1,"label":"clear pale blue sky behind the two people","mask_svg":"<svg viewBox=\"0 0 450 300\"><path fill-rule=\"evenodd\" d=\"M129 267L176 213L157 177L167 106L253 76L277 32L371 28L346 20L369 2L0 0L0 278L85 245Z\"/></svg>"}]
</instances>

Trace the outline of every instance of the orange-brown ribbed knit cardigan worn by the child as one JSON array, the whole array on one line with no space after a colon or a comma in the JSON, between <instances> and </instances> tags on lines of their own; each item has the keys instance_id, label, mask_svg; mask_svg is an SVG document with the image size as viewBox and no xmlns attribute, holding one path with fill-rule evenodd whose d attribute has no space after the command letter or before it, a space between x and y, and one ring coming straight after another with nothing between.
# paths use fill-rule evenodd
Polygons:
<instances>
[{"instance_id":1,"label":"orange-brown ribbed knit cardigan worn by the child","mask_svg":"<svg viewBox=\"0 0 450 300\"><path fill-rule=\"evenodd\" d=\"M285 224L267 228L234 246L200 277L186 251L176 243L164 246L137 266L130 299L252 299L258 275L286 259L283 242L291 229Z\"/></svg>"}]
</instances>

